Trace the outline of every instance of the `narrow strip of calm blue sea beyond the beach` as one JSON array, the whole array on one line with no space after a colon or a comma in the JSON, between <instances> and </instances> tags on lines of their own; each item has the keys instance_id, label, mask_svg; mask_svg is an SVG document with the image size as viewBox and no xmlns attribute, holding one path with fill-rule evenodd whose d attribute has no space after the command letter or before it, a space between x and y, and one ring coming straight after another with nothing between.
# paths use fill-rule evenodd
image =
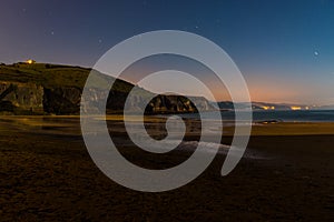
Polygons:
<instances>
[{"instance_id":1,"label":"narrow strip of calm blue sea beyond the beach","mask_svg":"<svg viewBox=\"0 0 334 222\"><path fill-rule=\"evenodd\" d=\"M185 117L194 117L195 114L185 114ZM205 113L205 119L212 119L212 114ZM234 112L222 112L223 120L233 120ZM283 122L334 122L334 110L281 110L281 111L254 111L254 122L277 120Z\"/></svg>"}]
</instances>

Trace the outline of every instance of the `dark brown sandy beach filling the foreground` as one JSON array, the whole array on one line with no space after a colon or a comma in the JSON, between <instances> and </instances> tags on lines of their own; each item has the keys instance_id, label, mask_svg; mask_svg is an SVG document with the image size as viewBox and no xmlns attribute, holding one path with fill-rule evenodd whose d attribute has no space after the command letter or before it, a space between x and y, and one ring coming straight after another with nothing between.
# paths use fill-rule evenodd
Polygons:
<instances>
[{"instance_id":1,"label":"dark brown sandy beach filling the foreground","mask_svg":"<svg viewBox=\"0 0 334 222\"><path fill-rule=\"evenodd\" d=\"M223 143L230 142L229 131ZM333 221L333 123L255 125L246 158L227 176L219 174L219 154L189 184L141 193L97 169L78 118L1 117L0 221ZM147 168L189 155L122 153Z\"/></svg>"}]
</instances>

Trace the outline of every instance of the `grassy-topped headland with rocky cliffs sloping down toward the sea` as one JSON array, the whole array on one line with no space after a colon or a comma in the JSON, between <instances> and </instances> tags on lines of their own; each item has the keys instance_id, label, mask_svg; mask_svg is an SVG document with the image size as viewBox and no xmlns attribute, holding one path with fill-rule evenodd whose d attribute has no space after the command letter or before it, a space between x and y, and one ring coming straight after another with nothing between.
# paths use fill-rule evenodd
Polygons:
<instances>
[{"instance_id":1,"label":"grassy-topped headland with rocky cliffs sloping down toward the sea","mask_svg":"<svg viewBox=\"0 0 334 222\"><path fill-rule=\"evenodd\" d=\"M79 114L82 89L91 69L61 64L14 63L0 64L0 113L2 114ZM97 100L106 97L108 81L115 80L97 71L90 85L88 107L99 109ZM108 94L107 113L120 113L129 98L131 110L145 98L155 98L146 108L147 114L197 112L195 104L180 95L157 95L124 80L116 80ZM193 101L205 111L214 108L205 98L193 97Z\"/></svg>"}]
</instances>

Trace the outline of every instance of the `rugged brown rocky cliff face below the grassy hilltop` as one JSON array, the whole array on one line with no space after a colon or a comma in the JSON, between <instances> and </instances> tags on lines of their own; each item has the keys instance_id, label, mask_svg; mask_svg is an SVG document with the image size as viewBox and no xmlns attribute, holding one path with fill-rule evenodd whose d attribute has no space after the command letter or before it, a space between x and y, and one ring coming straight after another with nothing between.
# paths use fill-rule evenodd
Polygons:
<instances>
[{"instance_id":1,"label":"rugged brown rocky cliff face below the grassy hilltop","mask_svg":"<svg viewBox=\"0 0 334 222\"><path fill-rule=\"evenodd\" d=\"M0 111L13 114L79 114L81 89L59 87L45 88L32 83L0 83ZM92 89L90 97L86 99L86 107L100 109L99 99L106 97L106 92ZM110 91L107 100L107 113L120 113L124 110L128 94L119 91ZM190 101L190 100L191 101ZM147 114L158 113L185 113L209 111L214 108L205 98L181 95L156 95L146 107ZM141 111L146 101L144 95L132 94L129 99L132 112ZM197 108L196 108L197 107Z\"/></svg>"}]
</instances>

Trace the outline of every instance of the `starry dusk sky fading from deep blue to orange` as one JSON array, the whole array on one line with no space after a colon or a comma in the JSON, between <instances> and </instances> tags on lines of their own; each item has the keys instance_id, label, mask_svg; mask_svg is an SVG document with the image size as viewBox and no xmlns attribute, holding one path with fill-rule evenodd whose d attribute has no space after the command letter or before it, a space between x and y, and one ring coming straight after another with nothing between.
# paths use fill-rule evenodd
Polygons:
<instances>
[{"instance_id":1,"label":"starry dusk sky fading from deep blue to orange","mask_svg":"<svg viewBox=\"0 0 334 222\"><path fill-rule=\"evenodd\" d=\"M8 0L1 1L0 27L0 62L35 59L82 67L92 67L135 34L189 31L232 57L254 101L334 104L330 0Z\"/></svg>"}]
</instances>

